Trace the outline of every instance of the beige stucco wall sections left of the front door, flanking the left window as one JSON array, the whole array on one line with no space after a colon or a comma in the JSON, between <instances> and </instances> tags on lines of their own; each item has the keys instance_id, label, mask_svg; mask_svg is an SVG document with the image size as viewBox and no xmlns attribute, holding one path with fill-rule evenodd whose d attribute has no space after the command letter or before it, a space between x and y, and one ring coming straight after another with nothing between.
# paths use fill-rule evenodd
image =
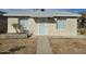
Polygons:
<instances>
[{"instance_id":1,"label":"beige stucco wall sections left of the front door, flanking the left window","mask_svg":"<svg viewBox=\"0 0 86 64\"><path fill-rule=\"evenodd\" d=\"M29 30L30 33L33 33L34 35L38 34L38 27L37 27L37 23L35 22L35 18L28 18L29 22ZM12 24L19 24L19 17L8 17L8 33L16 33L15 28L12 26Z\"/></svg>"}]
</instances>

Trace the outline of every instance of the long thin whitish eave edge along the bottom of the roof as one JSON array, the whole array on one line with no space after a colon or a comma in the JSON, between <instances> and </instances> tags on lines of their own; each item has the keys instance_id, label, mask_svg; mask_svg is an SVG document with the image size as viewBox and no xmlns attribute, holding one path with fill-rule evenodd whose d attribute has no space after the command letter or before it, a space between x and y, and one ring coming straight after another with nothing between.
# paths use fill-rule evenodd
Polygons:
<instances>
[{"instance_id":1,"label":"long thin whitish eave edge along the bottom of the roof","mask_svg":"<svg viewBox=\"0 0 86 64\"><path fill-rule=\"evenodd\" d=\"M30 15L30 14L3 14L3 16L30 16L30 17L81 17L81 14L77 15Z\"/></svg>"}]
</instances>

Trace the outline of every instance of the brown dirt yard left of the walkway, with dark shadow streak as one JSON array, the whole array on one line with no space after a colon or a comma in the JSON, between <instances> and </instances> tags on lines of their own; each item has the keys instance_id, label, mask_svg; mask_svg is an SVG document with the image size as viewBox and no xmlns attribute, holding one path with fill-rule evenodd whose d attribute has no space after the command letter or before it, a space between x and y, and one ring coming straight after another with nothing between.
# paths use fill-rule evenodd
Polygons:
<instances>
[{"instance_id":1,"label":"brown dirt yard left of the walkway, with dark shadow streak","mask_svg":"<svg viewBox=\"0 0 86 64\"><path fill-rule=\"evenodd\" d=\"M36 39L0 39L0 54L35 54Z\"/></svg>"}]
</instances>

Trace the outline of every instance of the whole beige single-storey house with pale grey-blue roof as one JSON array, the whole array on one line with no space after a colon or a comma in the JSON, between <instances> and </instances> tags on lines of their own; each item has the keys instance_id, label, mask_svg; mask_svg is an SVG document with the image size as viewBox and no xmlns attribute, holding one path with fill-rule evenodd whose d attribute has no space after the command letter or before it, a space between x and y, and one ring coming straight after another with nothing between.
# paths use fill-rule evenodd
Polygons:
<instances>
[{"instance_id":1,"label":"whole beige single-storey house with pale grey-blue roof","mask_svg":"<svg viewBox=\"0 0 86 64\"><path fill-rule=\"evenodd\" d=\"M46 10L14 10L7 11L2 16L7 17L7 33L16 33L12 24L19 24L33 35L77 36L77 18L81 14Z\"/></svg>"}]
</instances>

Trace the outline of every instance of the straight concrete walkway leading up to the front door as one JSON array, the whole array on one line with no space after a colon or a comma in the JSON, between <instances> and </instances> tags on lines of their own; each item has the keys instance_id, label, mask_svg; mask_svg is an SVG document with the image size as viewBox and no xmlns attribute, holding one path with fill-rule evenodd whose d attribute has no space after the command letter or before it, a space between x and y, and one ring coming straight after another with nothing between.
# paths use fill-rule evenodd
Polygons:
<instances>
[{"instance_id":1,"label":"straight concrete walkway leading up to the front door","mask_svg":"<svg viewBox=\"0 0 86 64\"><path fill-rule=\"evenodd\" d=\"M37 54L52 54L48 37L45 36L38 37Z\"/></svg>"}]
</instances>

